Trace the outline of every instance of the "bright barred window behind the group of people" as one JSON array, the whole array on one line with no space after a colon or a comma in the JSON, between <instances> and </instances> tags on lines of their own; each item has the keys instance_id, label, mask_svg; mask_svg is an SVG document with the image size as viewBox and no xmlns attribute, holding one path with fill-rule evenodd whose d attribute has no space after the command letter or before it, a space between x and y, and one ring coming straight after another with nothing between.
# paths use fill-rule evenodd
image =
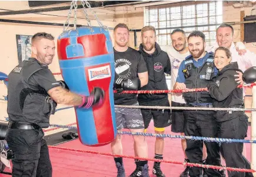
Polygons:
<instances>
[{"instance_id":1,"label":"bright barred window behind the group of people","mask_svg":"<svg viewBox=\"0 0 256 177\"><path fill-rule=\"evenodd\" d=\"M172 30L182 26L188 36L193 30L205 34L207 45L212 46L215 30L222 23L222 1L184 2L165 6L148 7L145 11L145 25L157 28L159 45L171 44ZM200 26L199 26L200 25ZM173 29L161 29L161 28Z\"/></svg>"}]
</instances>

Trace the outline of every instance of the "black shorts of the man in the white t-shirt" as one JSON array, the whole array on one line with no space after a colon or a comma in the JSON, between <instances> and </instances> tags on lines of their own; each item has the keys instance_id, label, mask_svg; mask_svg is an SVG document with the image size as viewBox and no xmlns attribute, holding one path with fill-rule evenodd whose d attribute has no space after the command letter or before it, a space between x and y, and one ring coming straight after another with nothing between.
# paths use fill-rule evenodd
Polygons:
<instances>
[{"instance_id":1,"label":"black shorts of the man in the white t-shirt","mask_svg":"<svg viewBox=\"0 0 256 177\"><path fill-rule=\"evenodd\" d=\"M176 103L172 101L172 107L185 107L185 106L186 106L185 103ZM183 110L172 110L171 118L172 118L171 131L184 132Z\"/></svg>"}]
</instances>

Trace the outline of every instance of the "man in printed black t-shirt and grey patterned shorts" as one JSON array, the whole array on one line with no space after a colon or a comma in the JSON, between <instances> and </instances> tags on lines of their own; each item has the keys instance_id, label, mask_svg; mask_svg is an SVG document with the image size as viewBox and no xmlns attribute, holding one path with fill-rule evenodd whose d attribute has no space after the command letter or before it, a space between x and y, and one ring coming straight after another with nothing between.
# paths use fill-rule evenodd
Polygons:
<instances>
[{"instance_id":1,"label":"man in printed black t-shirt and grey patterned shorts","mask_svg":"<svg viewBox=\"0 0 256 177\"><path fill-rule=\"evenodd\" d=\"M115 104L138 105L136 94L121 94L122 90L139 90L148 83L148 70L143 57L137 50L127 46L129 29L124 23L119 23L114 28L114 56L115 56ZM115 108L117 130L128 128L131 132L144 132L144 121L140 109ZM148 147L145 137L134 136L135 156L148 157ZM111 143L113 155L122 155L121 136ZM125 177L122 158L114 158L118 169L118 177ZM130 176L148 177L148 161L135 161L137 168Z\"/></svg>"}]
</instances>

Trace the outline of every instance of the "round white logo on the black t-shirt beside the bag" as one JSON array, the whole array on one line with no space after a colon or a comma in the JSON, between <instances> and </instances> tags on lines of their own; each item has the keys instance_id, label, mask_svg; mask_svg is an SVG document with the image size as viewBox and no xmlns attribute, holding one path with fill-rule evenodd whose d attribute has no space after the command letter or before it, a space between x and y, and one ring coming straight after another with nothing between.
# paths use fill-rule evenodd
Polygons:
<instances>
[{"instance_id":1,"label":"round white logo on the black t-shirt beside the bag","mask_svg":"<svg viewBox=\"0 0 256 177\"><path fill-rule=\"evenodd\" d=\"M115 61L115 73L119 78L127 79L131 75L131 62L127 59L118 59Z\"/></svg>"}]
</instances>

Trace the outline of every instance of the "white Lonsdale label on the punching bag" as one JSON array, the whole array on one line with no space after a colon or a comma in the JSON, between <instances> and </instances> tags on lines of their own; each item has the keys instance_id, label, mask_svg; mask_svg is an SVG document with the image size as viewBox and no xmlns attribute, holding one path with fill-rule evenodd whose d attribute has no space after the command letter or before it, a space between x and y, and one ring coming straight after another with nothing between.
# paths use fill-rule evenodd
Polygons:
<instances>
[{"instance_id":1,"label":"white Lonsdale label on the punching bag","mask_svg":"<svg viewBox=\"0 0 256 177\"><path fill-rule=\"evenodd\" d=\"M109 65L88 69L88 74L89 81L111 77Z\"/></svg>"}]
</instances>

